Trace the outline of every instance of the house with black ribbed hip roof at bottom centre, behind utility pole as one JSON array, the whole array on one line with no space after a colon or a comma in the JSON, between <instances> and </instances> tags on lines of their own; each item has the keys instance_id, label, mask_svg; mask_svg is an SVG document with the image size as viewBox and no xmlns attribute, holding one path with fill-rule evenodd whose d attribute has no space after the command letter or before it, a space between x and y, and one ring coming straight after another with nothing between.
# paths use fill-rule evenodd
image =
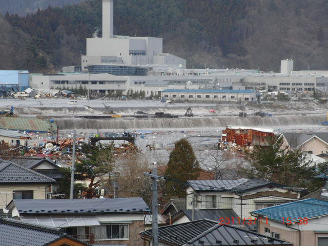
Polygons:
<instances>
[{"instance_id":1,"label":"house with black ribbed hip roof at bottom centre, behind utility pole","mask_svg":"<svg viewBox=\"0 0 328 246\"><path fill-rule=\"evenodd\" d=\"M152 230L140 232L146 246L152 245ZM235 226L218 224L208 219L173 224L158 228L160 246L204 246L204 245L290 245L281 239L246 231Z\"/></svg>"}]
</instances>

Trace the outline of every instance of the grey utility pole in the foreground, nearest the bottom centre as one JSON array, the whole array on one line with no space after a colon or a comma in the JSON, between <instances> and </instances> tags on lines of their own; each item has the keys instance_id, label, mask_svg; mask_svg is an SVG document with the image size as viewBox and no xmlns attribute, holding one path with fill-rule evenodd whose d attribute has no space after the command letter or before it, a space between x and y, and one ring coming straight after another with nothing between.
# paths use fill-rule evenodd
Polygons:
<instances>
[{"instance_id":1,"label":"grey utility pole in the foreground, nearest the bottom centre","mask_svg":"<svg viewBox=\"0 0 328 246\"><path fill-rule=\"evenodd\" d=\"M157 221L157 178L161 178L157 176L157 168L156 166L153 168L152 173L144 173L144 175L151 177L152 179L152 232L153 232L153 245L158 246L158 221Z\"/></svg>"}]
</instances>

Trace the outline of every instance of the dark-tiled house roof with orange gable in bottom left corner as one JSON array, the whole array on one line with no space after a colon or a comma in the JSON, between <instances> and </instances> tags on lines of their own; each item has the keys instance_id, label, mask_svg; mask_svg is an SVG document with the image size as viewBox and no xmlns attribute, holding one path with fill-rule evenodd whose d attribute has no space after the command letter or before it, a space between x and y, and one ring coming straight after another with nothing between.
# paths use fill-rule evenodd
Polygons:
<instances>
[{"instance_id":1,"label":"dark-tiled house roof with orange gable in bottom left corner","mask_svg":"<svg viewBox=\"0 0 328 246\"><path fill-rule=\"evenodd\" d=\"M22 222L16 219L0 218L0 241L2 246L88 246L90 244L66 235L63 231ZM90 245L91 246L91 245Z\"/></svg>"}]
</instances>

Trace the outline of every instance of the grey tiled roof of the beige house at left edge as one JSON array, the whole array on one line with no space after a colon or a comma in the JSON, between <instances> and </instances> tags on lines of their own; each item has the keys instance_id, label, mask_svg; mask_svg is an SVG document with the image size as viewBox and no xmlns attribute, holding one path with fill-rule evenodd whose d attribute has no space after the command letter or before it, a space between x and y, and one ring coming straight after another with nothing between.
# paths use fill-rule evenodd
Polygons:
<instances>
[{"instance_id":1,"label":"grey tiled roof of the beige house at left edge","mask_svg":"<svg viewBox=\"0 0 328 246\"><path fill-rule=\"evenodd\" d=\"M53 183L54 179L13 162L0 160L0 183Z\"/></svg>"}]
</instances>

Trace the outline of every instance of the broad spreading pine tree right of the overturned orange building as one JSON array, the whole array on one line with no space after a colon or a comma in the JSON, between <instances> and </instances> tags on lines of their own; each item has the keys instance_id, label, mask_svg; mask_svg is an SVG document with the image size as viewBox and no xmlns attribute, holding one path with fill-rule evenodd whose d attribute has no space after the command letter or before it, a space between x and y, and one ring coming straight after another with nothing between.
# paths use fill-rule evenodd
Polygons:
<instances>
[{"instance_id":1,"label":"broad spreading pine tree right of the overturned orange building","mask_svg":"<svg viewBox=\"0 0 328 246\"><path fill-rule=\"evenodd\" d=\"M314 168L299 149L292 150L283 145L283 138L276 142L269 139L268 146L255 146L245 152L250 166L244 168L251 179L269 180L285 186L309 187L314 177Z\"/></svg>"}]
</instances>

